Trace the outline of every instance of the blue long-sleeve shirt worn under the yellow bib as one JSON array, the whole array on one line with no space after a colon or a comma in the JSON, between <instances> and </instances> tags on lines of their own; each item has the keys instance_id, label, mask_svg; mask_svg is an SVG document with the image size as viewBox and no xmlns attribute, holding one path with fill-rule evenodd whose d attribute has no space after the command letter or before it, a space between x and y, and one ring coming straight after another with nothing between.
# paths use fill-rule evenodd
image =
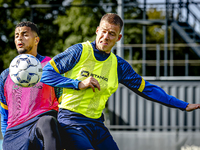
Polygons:
<instances>
[{"instance_id":1,"label":"blue long-sleeve shirt worn under the yellow bib","mask_svg":"<svg viewBox=\"0 0 200 150\"><path fill-rule=\"evenodd\" d=\"M96 49L95 41L91 44L94 49L95 58L98 61L104 61L109 57L110 54ZM79 62L82 54L82 48L82 44L75 44L64 52L56 55L53 58L55 65L52 66L48 62L43 68L41 82L54 87L74 88L77 90L80 81L63 77L61 74L71 70ZM153 85L148 81L145 81L143 91L139 91L138 89L142 84L142 77L133 70L127 61L117 55L116 57L118 61L117 73L119 83L125 85L133 92L148 100L155 101L169 107L185 110L188 105L187 102L168 95L162 88L157 85Z\"/></svg>"}]
</instances>

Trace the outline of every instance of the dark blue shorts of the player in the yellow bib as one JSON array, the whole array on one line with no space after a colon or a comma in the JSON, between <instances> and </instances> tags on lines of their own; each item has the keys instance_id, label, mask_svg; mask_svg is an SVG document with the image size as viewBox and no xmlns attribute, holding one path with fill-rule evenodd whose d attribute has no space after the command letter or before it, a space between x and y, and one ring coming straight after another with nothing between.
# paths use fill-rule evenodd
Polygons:
<instances>
[{"instance_id":1,"label":"dark blue shorts of the player in the yellow bib","mask_svg":"<svg viewBox=\"0 0 200 150\"><path fill-rule=\"evenodd\" d=\"M119 150L109 130L99 119L60 109L58 122L62 127L62 141L67 150Z\"/></svg>"}]
</instances>

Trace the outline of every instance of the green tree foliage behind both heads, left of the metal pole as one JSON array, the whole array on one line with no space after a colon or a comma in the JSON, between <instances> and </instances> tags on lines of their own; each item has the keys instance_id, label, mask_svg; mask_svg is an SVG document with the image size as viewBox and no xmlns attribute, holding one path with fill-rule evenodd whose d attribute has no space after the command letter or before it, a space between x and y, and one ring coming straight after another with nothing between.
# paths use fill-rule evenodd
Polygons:
<instances>
[{"instance_id":1,"label":"green tree foliage behind both heads, left of the metal pole","mask_svg":"<svg viewBox=\"0 0 200 150\"><path fill-rule=\"evenodd\" d=\"M135 2L124 2L130 1ZM51 7L47 7L49 5ZM0 18L2 71L17 55L14 45L17 23L36 23L40 32L38 51L42 55L53 57L72 44L93 41L102 15L107 12L117 13L117 0L1 0L0 7L0 13L4 14ZM130 9L127 10L130 12Z\"/></svg>"}]
</instances>

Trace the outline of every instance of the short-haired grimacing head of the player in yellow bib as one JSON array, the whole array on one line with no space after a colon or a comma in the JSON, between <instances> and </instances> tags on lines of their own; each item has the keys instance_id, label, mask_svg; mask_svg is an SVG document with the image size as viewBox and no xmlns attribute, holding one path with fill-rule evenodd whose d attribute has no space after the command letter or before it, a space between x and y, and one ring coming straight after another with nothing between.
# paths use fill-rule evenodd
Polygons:
<instances>
[{"instance_id":1,"label":"short-haired grimacing head of the player in yellow bib","mask_svg":"<svg viewBox=\"0 0 200 150\"><path fill-rule=\"evenodd\" d=\"M115 13L105 14L96 29L96 48L100 51L110 53L112 47L118 42L122 35L123 21Z\"/></svg>"}]
</instances>

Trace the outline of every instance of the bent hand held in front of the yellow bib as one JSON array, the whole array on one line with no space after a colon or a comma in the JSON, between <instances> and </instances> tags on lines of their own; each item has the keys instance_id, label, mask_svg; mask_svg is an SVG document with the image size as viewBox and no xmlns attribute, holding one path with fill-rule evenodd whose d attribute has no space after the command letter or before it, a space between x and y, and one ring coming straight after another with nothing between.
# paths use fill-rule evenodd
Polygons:
<instances>
[{"instance_id":1,"label":"bent hand held in front of the yellow bib","mask_svg":"<svg viewBox=\"0 0 200 150\"><path fill-rule=\"evenodd\" d=\"M78 88L80 90L83 90L83 89L86 89L86 88L89 88L91 87L93 92L95 92L95 87L98 88L98 90L100 91L100 85L99 85L99 82L93 78L92 76L90 76L89 78L79 82L78 84Z\"/></svg>"}]
</instances>

